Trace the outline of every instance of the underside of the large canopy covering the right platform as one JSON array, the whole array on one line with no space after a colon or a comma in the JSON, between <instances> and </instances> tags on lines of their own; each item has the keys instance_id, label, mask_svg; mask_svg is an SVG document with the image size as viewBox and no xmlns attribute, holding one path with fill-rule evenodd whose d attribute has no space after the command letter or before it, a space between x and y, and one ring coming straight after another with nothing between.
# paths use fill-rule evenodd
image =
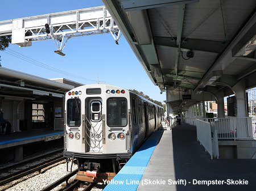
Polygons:
<instances>
[{"instance_id":1,"label":"underside of the large canopy covering the right platform","mask_svg":"<svg viewBox=\"0 0 256 191\"><path fill-rule=\"evenodd\" d=\"M103 2L161 91L228 96L241 80L255 87L256 1Z\"/></svg>"}]
</instances>

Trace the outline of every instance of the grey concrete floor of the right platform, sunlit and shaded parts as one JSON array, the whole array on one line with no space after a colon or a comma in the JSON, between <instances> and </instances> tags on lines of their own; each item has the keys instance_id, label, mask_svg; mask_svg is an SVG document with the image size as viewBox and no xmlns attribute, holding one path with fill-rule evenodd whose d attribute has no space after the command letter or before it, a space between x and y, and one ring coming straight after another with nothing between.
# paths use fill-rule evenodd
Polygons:
<instances>
[{"instance_id":1,"label":"grey concrete floor of the right platform, sunlit and shaded parts","mask_svg":"<svg viewBox=\"0 0 256 191\"><path fill-rule=\"evenodd\" d=\"M196 127L181 124L164 131L137 190L250 191L255 185L255 159L211 160Z\"/></svg>"}]
</instances>

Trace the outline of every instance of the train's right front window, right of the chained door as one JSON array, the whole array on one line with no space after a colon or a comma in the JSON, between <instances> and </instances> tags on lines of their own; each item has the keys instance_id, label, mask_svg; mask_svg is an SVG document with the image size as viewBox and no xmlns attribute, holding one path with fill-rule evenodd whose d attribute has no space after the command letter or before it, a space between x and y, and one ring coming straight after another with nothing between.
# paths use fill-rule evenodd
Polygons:
<instances>
[{"instance_id":1,"label":"train's right front window, right of the chained door","mask_svg":"<svg viewBox=\"0 0 256 191\"><path fill-rule=\"evenodd\" d=\"M127 100L124 97L112 97L107 101L107 124L110 127L127 125Z\"/></svg>"}]
</instances>

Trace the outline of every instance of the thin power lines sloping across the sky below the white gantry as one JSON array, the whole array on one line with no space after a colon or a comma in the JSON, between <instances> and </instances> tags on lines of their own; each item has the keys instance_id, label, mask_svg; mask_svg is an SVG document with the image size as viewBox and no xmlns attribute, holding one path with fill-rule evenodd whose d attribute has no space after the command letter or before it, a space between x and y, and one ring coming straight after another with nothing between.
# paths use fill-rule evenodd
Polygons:
<instances>
[{"instance_id":1,"label":"thin power lines sloping across the sky below the white gantry","mask_svg":"<svg viewBox=\"0 0 256 191\"><path fill-rule=\"evenodd\" d=\"M70 73L67 73L63 70L56 69L55 67L46 65L45 63L36 61L36 60L34 60L30 57L27 57L27 56L24 56L23 54L15 52L14 50L11 50L10 48L6 48L5 51L3 51L3 52L6 53L6 54L11 55L13 57L19 58L20 60L32 63L36 66L43 67L44 69L55 71L56 73L60 73L60 74L68 75L69 77L79 78L79 79L88 80L88 81L92 81L92 82L98 82L98 80L93 80L93 79L89 79L89 78L80 77L79 75L70 74Z\"/></svg>"}]
</instances>

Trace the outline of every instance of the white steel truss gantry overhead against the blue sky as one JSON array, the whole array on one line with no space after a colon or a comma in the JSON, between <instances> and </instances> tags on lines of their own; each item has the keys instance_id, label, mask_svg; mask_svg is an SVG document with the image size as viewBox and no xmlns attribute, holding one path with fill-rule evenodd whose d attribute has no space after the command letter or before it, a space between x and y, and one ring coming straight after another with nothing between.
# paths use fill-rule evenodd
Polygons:
<instances>
[{"instance_id":1,"label":"white steel truss gantry overhead against the blue sky","mask_svg":"<svg viewBox=\"0 0 256 191\"><path fill-rule=\"evenodd\" d=\"M122 33L105 6L53 14L30 16L0 22L0 36L11 35L11 44L31 46L33 41L52 39L57 54L72 37L111 33L115 43Z\"/></svg>"}]
</instances>

